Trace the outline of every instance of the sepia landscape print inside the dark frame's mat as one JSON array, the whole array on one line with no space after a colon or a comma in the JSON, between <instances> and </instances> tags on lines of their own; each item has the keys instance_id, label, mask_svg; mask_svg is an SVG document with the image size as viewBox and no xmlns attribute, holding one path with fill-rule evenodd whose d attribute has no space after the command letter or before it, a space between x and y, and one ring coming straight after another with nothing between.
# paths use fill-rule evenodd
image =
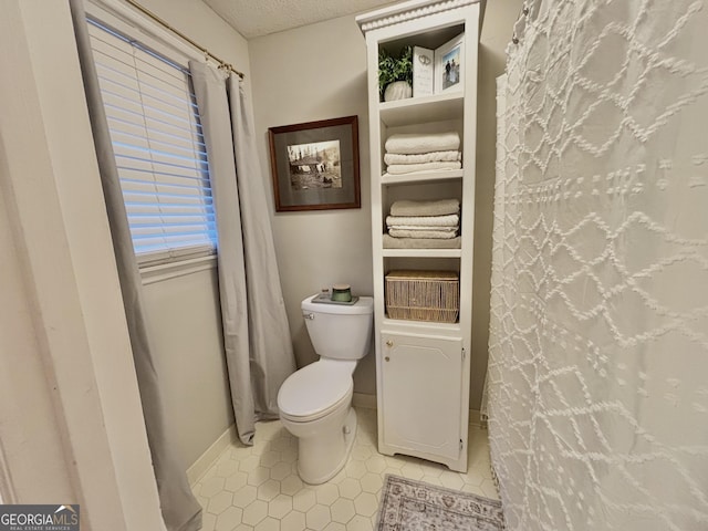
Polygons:
<instances>
[{"instance_id":1,"label":"sepia landscape print inside the dark frame's mat","mask_svg":"<svg viewBox=\"0 0 708 531\"><path fill-rule=\"evenodd\" d=\"M288 146L292 190L342 188L340 140Z\"/></svg>"}]
</instances>

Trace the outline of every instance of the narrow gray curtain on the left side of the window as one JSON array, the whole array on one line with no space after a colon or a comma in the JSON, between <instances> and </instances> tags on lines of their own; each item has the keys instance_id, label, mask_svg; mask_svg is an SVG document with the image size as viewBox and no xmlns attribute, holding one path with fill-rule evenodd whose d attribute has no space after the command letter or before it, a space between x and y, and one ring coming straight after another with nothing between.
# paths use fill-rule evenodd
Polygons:
<instances>
[{"instance_id":1,"label":"narrow gray curtain on the left side of the window","mask_svg":"<svg viewBox=\"0 0 708 531\"><path fill-rule=\"evenodd\" d=\"M93 62L86 14L82 0L70 0L70 4L163 519L169 531L196 531L201 529L201 507L191 493L186 471L173 449L175 438L163 409L145 321L143 284Z\"/></svg>"}]
</instances>

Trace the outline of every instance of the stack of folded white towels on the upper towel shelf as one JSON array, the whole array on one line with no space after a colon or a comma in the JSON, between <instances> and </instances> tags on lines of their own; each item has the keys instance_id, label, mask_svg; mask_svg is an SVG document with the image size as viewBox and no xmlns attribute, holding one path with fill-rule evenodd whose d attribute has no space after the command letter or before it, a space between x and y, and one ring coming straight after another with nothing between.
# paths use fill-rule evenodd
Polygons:
<instances>
[{"instance_id":1,"label":"stack of folded white towels on the upper towel shelf","mask_svg":"<svg viewBox=\"0 0 708 531\"><path fill-rule=\"evenodd\" d=\"M391 175L462 167L457 132L391 135L385 147L384 163Z\"/></svg>"}]
</instances>

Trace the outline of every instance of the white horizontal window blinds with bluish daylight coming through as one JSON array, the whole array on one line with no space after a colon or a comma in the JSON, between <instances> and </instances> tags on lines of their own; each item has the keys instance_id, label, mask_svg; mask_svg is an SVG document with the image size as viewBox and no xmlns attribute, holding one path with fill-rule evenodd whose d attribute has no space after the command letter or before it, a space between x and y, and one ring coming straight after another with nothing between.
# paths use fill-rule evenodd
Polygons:
<instances>
[{"instance_id":1,"label":"white horizontal window blinds with bluish daylight coming through","mask_svg":"<svg viewBox=\"0 0 708 531\"><path fill-rule=\"evenodd\" d=\"M215 252L209 165L189 72L88 20L123 198L142 266Z\"/></svg>"}]
</instances>

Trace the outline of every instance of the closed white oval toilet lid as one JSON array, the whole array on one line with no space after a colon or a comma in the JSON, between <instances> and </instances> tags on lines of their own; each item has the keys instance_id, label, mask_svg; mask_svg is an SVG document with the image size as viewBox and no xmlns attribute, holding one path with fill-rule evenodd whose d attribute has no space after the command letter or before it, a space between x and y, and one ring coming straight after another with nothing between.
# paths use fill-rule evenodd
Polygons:
<instances>
[{"instance_id":1,"label":"closed white oval toilet lid","mask_svg":"<svg viewBox=\"0 0 708 531\"><path fill-rule=\"evenodd\" d=\"M315 362L285 379L278 407L289 417L319 418L346 398L353 385L351 368Z\"/></svg>"}]
</instances>

